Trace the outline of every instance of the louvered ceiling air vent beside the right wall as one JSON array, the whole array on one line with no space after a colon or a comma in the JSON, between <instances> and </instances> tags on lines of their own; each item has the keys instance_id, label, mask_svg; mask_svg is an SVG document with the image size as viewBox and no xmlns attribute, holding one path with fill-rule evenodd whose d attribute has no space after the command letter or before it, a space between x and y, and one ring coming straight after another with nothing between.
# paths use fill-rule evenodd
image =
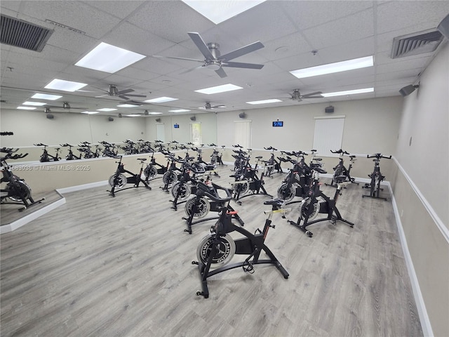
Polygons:
<instances>
[{"instance_id":1,"label":"louvered ceiling air vent beside the right wall","mask_svg":"<svg viewBox=\"0 0 449 337\"><path fill-rule=\"evenodd\" d=\"M431 53L435 51L443 40L443 35L435 29L425 30L393 39L391 58L405 58L406 56Z\"/></svg>"}]
</instances>

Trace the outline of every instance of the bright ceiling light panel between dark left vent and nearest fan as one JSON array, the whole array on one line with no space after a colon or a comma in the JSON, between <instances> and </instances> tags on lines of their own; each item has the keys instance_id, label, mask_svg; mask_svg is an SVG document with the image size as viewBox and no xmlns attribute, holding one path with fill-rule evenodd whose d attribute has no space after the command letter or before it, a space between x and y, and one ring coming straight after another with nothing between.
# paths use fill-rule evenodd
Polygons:
<instances>
[{"instance_id":1,"label":"bright ceiling light panel between dark left vent and nearest fan","mask_svg":"<svg viewBox=\"0 0 449 337\"><path fill-rule=\"evenodd\" d=\"M145 55L127 51L126 49L105 44L102 42L86 56L75 63L78 67L84 67L100 72L109 72L114 74L128 65L132 65L138 60L145 58Z\"/></svg>"}]
</instances>

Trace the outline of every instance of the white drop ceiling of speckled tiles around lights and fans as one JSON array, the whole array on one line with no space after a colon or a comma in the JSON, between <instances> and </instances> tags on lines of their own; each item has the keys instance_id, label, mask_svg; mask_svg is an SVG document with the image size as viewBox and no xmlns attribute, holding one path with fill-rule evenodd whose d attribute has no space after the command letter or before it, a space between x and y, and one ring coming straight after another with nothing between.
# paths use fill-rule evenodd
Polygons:
<instances>
[{"instance_id":1,"label":"white drop ceiling of speckled tiles around lights and fans","mask_svg":"<svg viewBox=\"0 0 449 337\"><path fill-rule=\"evenodd\" d=\"M220 6L220 1L214 1ZM214 111L250 110L311 103L332 103L399 95L403 86L415 84L439 48L432 53L392 59L394 37L435 29L449 13L449 1L266 1L215 25L182 1L1 1L1 14L53 30L43 51L28 51L1 44L1 109L16 109L36 93L56 93L52 112L98 110L126 103L118 97L102 97L114 84L119 91L177 98L161 104L117 108L103 114L142 114L173 109L204 112L206 101L225 105ZM196 62L153 55L203 59L187 32L220 45L222 54L255 41L264 45L235 62L264 65L261 70L224 68L227 77ZM119 72L109 74L74 64L100 42L126 48L146 57ZM446 40L442 44L447 43ZM335 74L297 79L289 71L374 55L374 66ZM190 71L189 71L190 70ZM53 79L88 84L68 93L44 88ZM243 89L206 95L195 90L222 84ZM289 100L294 89L302 94L330 93L373 87L373 93L334 98ZM102 90L100 90L102 89ZM86 92L92 91L92 92ZM280 103L250 105L246 102L285 98ZM46 101L48 102L48 101ZM62 109L64 102L71 110ZM58 108L60 106L61 108ZM20 110L16 110L20 112ZM38 107L36 113L43 113Z\"/></svg>"}]
</instances>

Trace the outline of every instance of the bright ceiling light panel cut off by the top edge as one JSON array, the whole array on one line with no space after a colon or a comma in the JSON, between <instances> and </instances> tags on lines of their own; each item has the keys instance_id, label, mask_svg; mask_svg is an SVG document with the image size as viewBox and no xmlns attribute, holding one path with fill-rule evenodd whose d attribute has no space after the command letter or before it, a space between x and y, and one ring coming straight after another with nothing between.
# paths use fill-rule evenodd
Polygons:
<instances>
[{"instance_id":1,"label":"bright ceiling light panel cut off by the top edge","mask_svg":"<svg viewBox=\"0 0 449 337\"><path fill-rule=\"evenodd\" d=\"M248 9L261 4L265 0L251 1L229 1L222 0L218 4L215 1L182 0L195 11L208 18L218 25L229 18L232 18Z\"/></svg>"}]
</instances>

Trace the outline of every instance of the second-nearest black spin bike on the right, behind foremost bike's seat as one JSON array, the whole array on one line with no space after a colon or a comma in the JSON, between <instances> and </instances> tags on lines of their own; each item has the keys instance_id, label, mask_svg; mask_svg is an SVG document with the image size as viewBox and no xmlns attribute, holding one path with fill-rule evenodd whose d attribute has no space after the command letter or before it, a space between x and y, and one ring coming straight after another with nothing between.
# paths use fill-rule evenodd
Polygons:
<instances>
[{"instance_id":1,"label":"second-nearest black spin bike on the right, behind foremost bike's seat","mask_svg":"<svg viewBox=\"0 0 449 337\"><path fill-rule=\"evenodd\" d=\"M288 220L288 223L300 228L300 230L307 234L308 237L312 237L313 233L307 230L307 227L321 221L329 220L330 223L333 223L335 225L335 223L337 223L337 220L340 220L344 223L347 223L350 227L354 227L354 223L351 223L348 220L342 218L340 211L338 211L336 206L337 199L342 194L342 187L351 183L350 181L344 181L346 180L347 176L335 177L337 189L335 190L333 199L330 199L320 190L319 186L319 173L327 172L320 167L313 167L312 170L313 174L311 185L309 187L309 191L307 192L307 198L301 201L299 209L300 216L297 218L296 222ZM319 197L321 197L321 201L318 199ZM327 217L310 221L311 216L316 212L316 209L319 210L319 213L327 214Z\"/></svg>"}]
</instances>

